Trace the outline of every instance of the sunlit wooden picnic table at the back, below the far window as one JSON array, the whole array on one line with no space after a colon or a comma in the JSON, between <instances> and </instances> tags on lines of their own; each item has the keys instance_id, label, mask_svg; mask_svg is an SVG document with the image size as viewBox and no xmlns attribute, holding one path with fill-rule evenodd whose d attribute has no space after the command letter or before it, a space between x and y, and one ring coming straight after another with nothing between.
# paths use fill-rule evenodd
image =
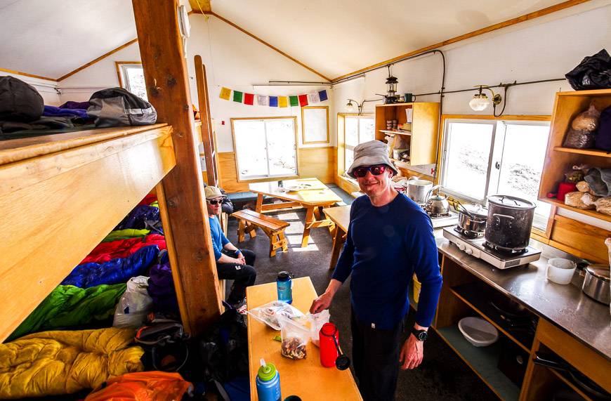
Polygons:
<instances>
[{"instance_id":1,"label":"sunlit wooden picnic table at the back, below the far window","mask_svg":"<svg viewBox=\"0 0 611 401\"><path fill-rule=\"evenodd\" d=\"M283 190L278 190L277 181L251 183L248 186L251 192L256 192L258 194L256 211L259 213L292 206L301 206L306 209L306 224L303 226L303 237L301 239L301 247L304 248L308 246L308 239L310 239L310 230L312 228L332 228L333 222L329 219L322 218L320 209L341 202L341 198L337 196L335 192L329 190L329 188L317 178L300 178L298 180L283 180L282 182L285 190L295 185L308 185L308 188L284 192ZM287 202L263 204L264 195L283 199Z\"/></svg>"}]
</instances>

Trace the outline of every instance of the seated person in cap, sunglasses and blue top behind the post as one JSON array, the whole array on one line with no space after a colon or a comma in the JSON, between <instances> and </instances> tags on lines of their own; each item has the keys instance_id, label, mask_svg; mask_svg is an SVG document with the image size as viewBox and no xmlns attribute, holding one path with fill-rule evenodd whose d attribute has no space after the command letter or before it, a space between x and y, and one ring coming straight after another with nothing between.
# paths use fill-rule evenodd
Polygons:
<instances>
[{"instance_id":1,"label":"seated person in cap, sunglasses and blue top behind the post","mask_svg":"<svg viewBox=\"0 0 611 401\"><path fill-rule=\"evenodd\" d=\"M227 302L237 308L244 303L246 287L254 284L257 277L253 267L255 254L248 249L237 249L223 234L221 223L216 217L221 213L221 202L225 199L221 190L208 186L204 188L204 195L206 196L206 206L208 206L216 272L218 272L218 278L221 280L233 280Z\"/></svg>"}]
</instances>

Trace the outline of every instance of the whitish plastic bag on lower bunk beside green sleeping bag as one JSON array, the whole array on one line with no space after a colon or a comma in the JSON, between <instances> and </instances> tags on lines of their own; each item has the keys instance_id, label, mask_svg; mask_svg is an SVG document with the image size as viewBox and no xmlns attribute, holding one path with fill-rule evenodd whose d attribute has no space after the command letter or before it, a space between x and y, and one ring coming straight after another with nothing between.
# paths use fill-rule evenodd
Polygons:
<instances>
[{"instance_id":1,"label":"whitish plastic bag on lower bunk beside green sleeping bag","mask_svg":"<svg viewBox=\"0 0 611 401\"><path fill-rule=\"evenodd\" d=\"M138 276L129 279L127 289L114 310L112 327L136 329L142 326L153 305L147 288L148 277Z\"/></svg>"}]
</instances>

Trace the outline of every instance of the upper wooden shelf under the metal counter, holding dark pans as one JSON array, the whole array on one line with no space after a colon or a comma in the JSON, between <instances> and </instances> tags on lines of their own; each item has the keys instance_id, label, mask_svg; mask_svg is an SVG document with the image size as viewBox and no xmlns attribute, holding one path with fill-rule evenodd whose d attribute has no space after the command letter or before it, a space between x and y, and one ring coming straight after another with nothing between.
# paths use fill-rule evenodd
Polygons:
<instances>
[{"instance_id":1,"label":"upper wooden shelf under the metal counter, holding dark pans","mask_svg":"<svg viewBox=\"0 0 611 401\"><path fill-rule=\"evenodd\" d=\"M534 331L532 336L527 336L523 333L512 333L511 327L509 327L501 317L493 318L496 310L488 302L488 300L490 300L490 296L487 296L488 291L483 289L477 282L450 287L449 291L466 303L471 309L475 310L478 315L490 322L490 324L501 331L507 338L518 344L520 348L530 353L530 347L532 347L532 341L534 340Z\"/></svg>"}]
</instances>

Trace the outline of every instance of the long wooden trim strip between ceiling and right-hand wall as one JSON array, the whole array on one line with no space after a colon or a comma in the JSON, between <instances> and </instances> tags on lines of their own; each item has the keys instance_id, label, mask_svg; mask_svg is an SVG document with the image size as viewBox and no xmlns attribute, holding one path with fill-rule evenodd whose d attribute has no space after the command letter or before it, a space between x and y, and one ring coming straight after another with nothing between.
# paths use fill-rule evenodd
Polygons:
<instances>
[{"instance_id":1,"label":"long wooden trim strip between ceiling and right-hand wall","mask_svg":"<svg viewBox=\"0 0 611 401\"><path fill-rule=\"evenodd\" d=\"M447 39L445 41L440 41L439 43L432 44L431 46L426 46L426 47L423 47L423 48L419 48L418 50L410 51L409 53L398 55L395 58L390 58L389 60L384 60L381 63L377 63L377 64L374 64L374 65L369 65L369 67L364 67L364 68L361 68L360 70L349 72L348 74L343 74L343 75L341 75L339 77L331 79L331 82L336 82L336 81L339 81L340 79L343 79L343 78L346 78L346 77L350 77L350 75L362 74L364 72L367 72L368 70L371 70L372 68L381 67L383 65L395 63L398 60L401 60L402 58L409 57L410 55L416 55L416 54L419 54L419 53L423 53L425 51L433 50L435 48L440 48L442 46L447 46L449 44L456 43L457 41L463 41L465 39L471 39L472 37L477 37L477 36L480 36L482 34L487 34L488 32L496 31L497 29L501 29L501 28L509 27L511 25L519 24L520 22L524 22L524 21L527 21L527 20L534 20L534 18L539 18L539 17L543 17L544 15L548 15L548 14L551 14L551 13L556 13L556 11L564 10L565 8L570 8L572 6L577 6L577 4L586 3L587 1L590 1L590 0L568 0L568 1L565 1L563 3L556 4L554 6L550 6L550 7L547 7L547 8L542 8L539 11L533 11L532 13L521 15L520 17L517 17L517 18L511 18L511 20L506 20L504 22L499 22L498 24L490 25L489 27L485 27L485 28L482 28L482 29L477 29L477 30L475 30L473 32L469 32L467 34L463 34L463 35L460 35L458 37L453 37L452 39Z\"/></svg>"}]
</instances>

